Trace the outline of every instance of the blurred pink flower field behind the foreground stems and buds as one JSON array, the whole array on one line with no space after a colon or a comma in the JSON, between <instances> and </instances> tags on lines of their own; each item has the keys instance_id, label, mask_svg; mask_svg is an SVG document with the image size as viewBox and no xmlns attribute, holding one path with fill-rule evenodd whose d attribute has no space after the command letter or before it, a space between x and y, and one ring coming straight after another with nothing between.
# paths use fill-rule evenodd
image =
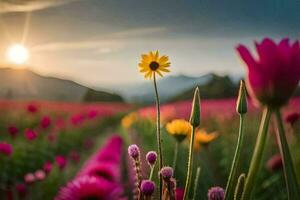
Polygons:
<instances>
[{"instance_id":1,"label":"blurred pink flower field behind the foreground stems and buds","mask_svg":"<svg viewBox=\"0 0 300 200\"><path fill-rule=\"evenodd\" d=\"M155 107L140 108L121 119L122 113L128 113L130 106L41 101L1 101L0 104L1 199L53 199L55 196L57 199L77 199L78 197L72 196L77 195L72 191L73 185L77 182L82 182L82 185L88 182L92 185L89 187L94 187L95 184L96 188L99 187L96 194L100 192L102 197L107 195L103 192L105 190L115 195L111 197L112 199L124 198L126 194L131 193L130 188L134 185L130 160L121 158L126 152L126 145L130 143L136 143L143 148L141 152L143 177L150 174L145 154L147 151L156 150L156 140L153 137ZM208 132L217 131L218 136L207 144L199 140L198 147L195 148L196 165L201 166L197 199L205 199L206 191L211 186L226 184L234 152L232 144L236 142L238 131L235 99L203 100L201 104L203 107L201 128ZM246 126L251 141L249 148L243 150L244 170L250 159L251 147L255 140L253 135L259 123L258 109L251 104L249 108L250 123ZM165 129L166 123L177 118L188 119L190 109L190 101L162 105L165 154L174 154L176 141ZM285 108L285 116L292 112L300 112L299 98L291 100L289 106ZM293 126L286 123L287 129L291 130L289 139L292 141L294 155L300 151L298 139L295 140L299 136L292 133L292 130L295 129L296 132L297 127L299 130L299 125L299 122ZM116 132L119 132L121 137L111 138ZM261 184L256 192L257 199L269 199L270 196L274 199L286 198L282 165L278 164L276 159L278 151L275 143L275 137L271 132L268 145L274 146L274 150L268 152L265 158L263 173L260 176ZM178 152L180 162L174 168L174 174L178 179L178 193L184 187L187 154L188 140L180 144ZM296 166L300 170L300 160L295 161L299 163ZM166 164L173 165L173 156L166 158ZM125 175L121 172L124 170ZM93 173L105 180L90 180L89 176ZM156 173L157 170L154 174ZM131 177L129 181L127 177ZM114 180L115 183L107 182L107 179Z\"/></svg>"}]
</instances>

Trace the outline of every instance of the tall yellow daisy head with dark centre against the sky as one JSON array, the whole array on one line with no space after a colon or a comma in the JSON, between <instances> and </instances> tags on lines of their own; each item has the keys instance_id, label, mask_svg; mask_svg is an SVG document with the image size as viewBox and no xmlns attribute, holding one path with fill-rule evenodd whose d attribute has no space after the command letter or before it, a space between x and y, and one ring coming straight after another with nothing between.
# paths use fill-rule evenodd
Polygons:
<instances>
[{"instance_id":1,"label":"tall yellow daisy head with dark centre against the sky","mask_svg":"<svg viewBox=\"0 0 300 200\"><path fill-rule=\"evenodd\" d=\"M162 72L170 72L170 62L168 56L159 57L158 51L150 51L149 54L143 54L141 62L139 63L140 72L145 73L145 78L152 78L154 73L160 76Z\"/></svg>"}]
</instances>

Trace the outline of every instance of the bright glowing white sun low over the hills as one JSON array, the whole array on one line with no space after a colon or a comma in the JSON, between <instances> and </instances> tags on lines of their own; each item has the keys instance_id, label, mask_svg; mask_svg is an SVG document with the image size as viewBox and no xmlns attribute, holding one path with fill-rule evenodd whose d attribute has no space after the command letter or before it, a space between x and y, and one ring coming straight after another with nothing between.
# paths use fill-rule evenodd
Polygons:
<instances>
[{"instance_id":1,"label":"bright glowing white sun low over the hills","mask_svg":"<svg viewBox=\"0 0 300 200\"><path fill-rule=\"evenodd\" d=\"M13 44L7 49L7 59L9 62L21 65L24 64L29 57L28 49L22 44Z\"/></svg>"}]
</instances>

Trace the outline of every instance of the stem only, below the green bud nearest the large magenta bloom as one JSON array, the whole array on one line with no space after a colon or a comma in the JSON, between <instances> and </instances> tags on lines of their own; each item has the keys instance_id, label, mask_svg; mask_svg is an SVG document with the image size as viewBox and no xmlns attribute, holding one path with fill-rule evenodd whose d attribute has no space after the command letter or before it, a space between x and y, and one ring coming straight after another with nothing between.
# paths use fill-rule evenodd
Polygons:
<instances>
[{"instance_id":1,"label":"stem only, below the green bud nearest the large magenta bloom","mask_svg":"<svg viewBox=\"0 0 300 200\"><path fill-rule=\"evenodd\" d=\"M225 191L225 200L231 200L234 196L236 181L238 179L238 170L239 170L239 163L240 162L240 156L241 156L241 149L244 141L244 114L240 115L240 128L239 128L239 136L237 141L237 146L235 149L235 154L233 157L232 165L230 174L228 177L227 185L226 185L226 191Z\"/></svg>"}]
</instances>

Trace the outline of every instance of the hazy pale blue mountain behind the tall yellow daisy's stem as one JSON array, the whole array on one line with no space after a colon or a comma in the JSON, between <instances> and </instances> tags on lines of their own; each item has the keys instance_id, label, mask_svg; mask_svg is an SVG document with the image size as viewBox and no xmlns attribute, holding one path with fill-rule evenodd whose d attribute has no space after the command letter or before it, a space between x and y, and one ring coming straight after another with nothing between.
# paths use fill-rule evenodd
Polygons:
<instances>
[{"instance_id":1,"label":"hazy pale blue mountain behind the tall yellow daisy's stem","mask_svg":"<svg viewBox=\"0 0 300 200\"><path fill-rule=\"evenodd\" d=\"M158 80L158 91L162 102L169 100L170 97L210 81L214 74L206 74L200 77L185 75L167 76ZM126 101L135 103L152 103L154 101L153 83L145 81L141 84L133 84L116 87L115 91L120 93Z\"/></svg>"}]
</instances>

